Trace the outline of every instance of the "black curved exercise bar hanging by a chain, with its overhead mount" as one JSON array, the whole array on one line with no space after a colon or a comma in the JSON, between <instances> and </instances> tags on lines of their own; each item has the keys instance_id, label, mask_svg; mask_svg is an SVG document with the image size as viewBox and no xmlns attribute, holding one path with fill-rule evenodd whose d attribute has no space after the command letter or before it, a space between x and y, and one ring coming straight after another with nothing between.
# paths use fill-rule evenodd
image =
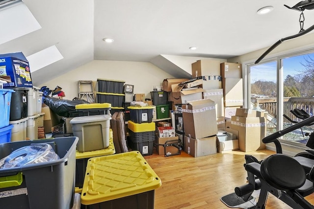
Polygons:
<instances>
[{"instance_id":1,"label":"black curved exercise bar hanging by a chain, with its overhead mount","mask_svg":"<svg viewBox=\"0 0 314 209\"><path fill-rule=\"evenodd\" d=\"M303 1L300 1L299 3L295 4L293 7L289 7L287 5L284 5L286 6L287 8L289 9L294 9L294 10L297 10L297 11L301 11L301 14L300 14L300 18L299 18L299 24L300 24L300 31L299 33L295 34L295 35L291 35L291 36L288 36L286 38L282 38L280 39L279 41L277 41L275 44L273 44L270 48L268 48L268 50L266 50L266 52L264 52L256 61L255 61L255 64L258 64L269 52L273 51L276 47L278 47L278 45L280 45L282 42L284 41L288 41L290 39L293 39L293 38L297 38L297 37L300 37L302 35L305 35L307 34L308 32L311 32L313 29L314 29L314 25L309 27L308 29L304 29L303 26L304 26L304 21L305 21L305 18L304 18L304 14L303 14L303 11L305 9L309 9L309 10L312 10L314 9L314 0L303 0Z\"/></svg>"}]
</instances>

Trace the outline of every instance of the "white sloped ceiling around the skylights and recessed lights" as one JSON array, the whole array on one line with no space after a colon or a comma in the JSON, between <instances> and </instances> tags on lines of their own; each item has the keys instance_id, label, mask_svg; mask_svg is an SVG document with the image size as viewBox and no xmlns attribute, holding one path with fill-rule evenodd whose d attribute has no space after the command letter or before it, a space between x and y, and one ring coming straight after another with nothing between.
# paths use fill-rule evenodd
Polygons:
<instances>
[{"instance_id":1,"label":"white sloped ceiling around the skylights and recessed lights","mask_svg":"<svg viewBox=\"0 0 314 209\"><path fill-rule=\"evenodd\" d=\"M0 53L28 56L55 45L64 57L32 73L35 85L93 59L157 66L164 55L227 59L269 47L300 30L300 12L284 6L300 0L23 1L42 28L1 44ZM257 14L268 5L274 7L271 13ZM314 10L304 15L308 28L314 24ZM105 37L114 42L105 43ZM197 50L189 50L191 46Z\"/></svg>"}]
</instances>

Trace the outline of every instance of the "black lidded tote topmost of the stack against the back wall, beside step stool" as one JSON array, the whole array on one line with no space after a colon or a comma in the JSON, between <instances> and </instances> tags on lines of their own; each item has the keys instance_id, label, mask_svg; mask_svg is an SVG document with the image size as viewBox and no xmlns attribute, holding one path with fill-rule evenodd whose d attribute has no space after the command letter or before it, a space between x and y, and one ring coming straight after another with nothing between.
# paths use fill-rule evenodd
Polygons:
<instances>
[{"instance_id":1,"label":"black lidded tote topmost of the stack against the back wall, beside step stool","mask_svg":"<svg viewBox=\"0 0 314 209\"><path fill-rule=\"evenodd\" d=\"M114 93L122 94L124 92L124 83L123 80L106 80L106 79L97 79L98 82L98 91L104 93ZM114 105L113 105L114 106Z\"/></svg>"}]
</instances>

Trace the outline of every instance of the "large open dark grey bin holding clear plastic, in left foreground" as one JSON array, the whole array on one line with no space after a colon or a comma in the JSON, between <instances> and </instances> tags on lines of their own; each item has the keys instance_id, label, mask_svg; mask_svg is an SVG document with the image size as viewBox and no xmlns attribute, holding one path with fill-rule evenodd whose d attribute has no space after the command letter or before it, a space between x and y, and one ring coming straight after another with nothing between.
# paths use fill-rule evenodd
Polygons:
<instances>
[{"instance_id":1,"label":"large open dark grey bin holding clear plastic, in left foreground","mask_svg":"<svg viewBox=\"0 0 314 209\"><path fill-rule=\"evenodd\" d=\"M60 157L51 162L0 169L0 182L22 174L21 185L7 185L0 193L22 191L20 195L0 198L3 209L71 209L75 192L76 146L78 137L17 141L0 144L0 158L34 143L49 143ZM23 193L27 189L26 192Z\"/></svg>"}]
</instances>

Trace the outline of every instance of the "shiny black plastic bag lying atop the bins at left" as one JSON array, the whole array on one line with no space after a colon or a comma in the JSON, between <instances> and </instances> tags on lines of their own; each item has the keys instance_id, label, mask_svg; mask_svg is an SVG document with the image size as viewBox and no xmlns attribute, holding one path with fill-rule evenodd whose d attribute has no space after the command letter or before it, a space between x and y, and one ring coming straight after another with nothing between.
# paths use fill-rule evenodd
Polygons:
<instances>
[{"instance_id":1,"label":"shiny black plastic bag lying atop the bins at left","mask_svg":"<svg viewBox=\"0 0 314 209\"><path fill-rule=\"evenodd\" d=\"M75 111L75 105L89 104L85 100L64 100L54 97L46 97L44 103L47 104L53 112L62 117L69 117L69 112Z\"/></svg>"}]
</instances>

